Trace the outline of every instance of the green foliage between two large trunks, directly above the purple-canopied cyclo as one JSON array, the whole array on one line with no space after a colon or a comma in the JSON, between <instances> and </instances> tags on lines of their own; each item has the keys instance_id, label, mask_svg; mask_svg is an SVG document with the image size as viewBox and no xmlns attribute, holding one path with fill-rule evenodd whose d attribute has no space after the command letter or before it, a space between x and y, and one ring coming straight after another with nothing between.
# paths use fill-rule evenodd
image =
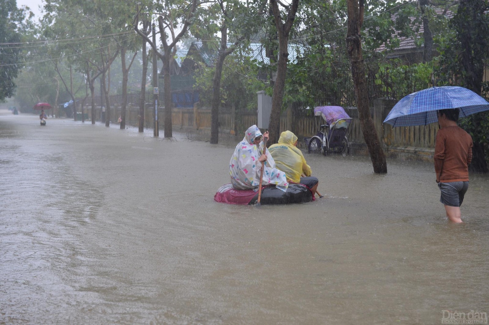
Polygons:
<instances>
[{"instance_id":1,"label":"green foliage between two large trunks, directly above the purple-canopied cyclo","mask_svg":"<svg viewBox=\"0 0 489 325\"><path fill-rule=\"evenodd\" d=\"M303 1L296 17L302 28L291 42L301 49L288 65L284 102L302 107L353 106L351 73L345 46L346 7L332 1Z\"/></svg>"}]
</instances>

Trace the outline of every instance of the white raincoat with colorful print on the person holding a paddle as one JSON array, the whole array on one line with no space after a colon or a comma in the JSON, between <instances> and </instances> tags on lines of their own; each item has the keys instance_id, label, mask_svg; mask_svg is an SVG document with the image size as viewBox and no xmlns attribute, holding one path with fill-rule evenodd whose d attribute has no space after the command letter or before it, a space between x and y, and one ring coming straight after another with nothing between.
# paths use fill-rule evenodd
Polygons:
<instances>
[{"instance_id":1,"label":"white raincoat with colorful print on the person holding a paddle","mask_svg":"<svg viewBox=\"0 0 489 325\"><path fill-rule=\"evenodd\" d=\"M244 135L243 141L238 143L234 154L229 162L229 174L231 183L238 190L257 189L260 184L260 171L262 163L258 158L263 152L263 140L258 148L253 141L262 132L256 125L253 125ZM275 168L275 161L272 156L266 152L267 160L264 162L265 170L263 171L262 185L276 185L278 189L287 191L289 183L284 172Z\"/></svg>"}]
</instances>

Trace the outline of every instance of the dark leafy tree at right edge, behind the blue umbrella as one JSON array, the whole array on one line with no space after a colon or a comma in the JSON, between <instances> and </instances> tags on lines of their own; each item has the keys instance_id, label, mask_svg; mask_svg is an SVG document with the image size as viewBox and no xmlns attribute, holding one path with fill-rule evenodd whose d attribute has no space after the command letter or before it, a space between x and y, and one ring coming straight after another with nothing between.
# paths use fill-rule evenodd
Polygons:
<instances>
[{"instance_id":1,"label":"dark leafy tree at right edge, behind the blue umbrella","mask_svg":"<svg viewBox=\"0 0 489 325\"><path fill-rule=\"evenodd\" d=\"M460 0L456 15L450 21L452 30L445 33L440 46L437 76L440 84L466 87L477 94L489 95L489 82L483 81L489 64L489 2ZM472 135L473 159L469 168L488 172L486 146L489 143L488 113L478 113L461 121Z\"/></svg>"}]
</instances>

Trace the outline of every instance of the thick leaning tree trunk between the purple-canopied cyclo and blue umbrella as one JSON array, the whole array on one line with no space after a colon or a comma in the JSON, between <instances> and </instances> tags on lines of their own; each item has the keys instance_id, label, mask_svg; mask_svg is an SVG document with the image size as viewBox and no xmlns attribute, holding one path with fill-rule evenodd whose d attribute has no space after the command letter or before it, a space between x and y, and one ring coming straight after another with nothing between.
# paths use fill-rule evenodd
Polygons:
<instances>
[{"instance_id":1,"label":"thick leaning tree trunk between the purple-canopied cyclo and blue umbrella","mask_svg":"<svg viewBox=\"0 0 489 325\"><path fill-rule=\"evenodd\" d=\"M360 2L363 2L360 0ZM348 4L348 30L346 44L348 57L352 69L352 77L355 85L358 117L362 128L363 137L370 153L370 159L374 167L374 173L387 173L385 154L380 146L377 131L372 115L370 114L367 84L365 82L365 66L363 63L362 46L360 39L360 27L363 20L363 7L359 7L357 0L347 0Z\"/></svg>"}]
</instances>

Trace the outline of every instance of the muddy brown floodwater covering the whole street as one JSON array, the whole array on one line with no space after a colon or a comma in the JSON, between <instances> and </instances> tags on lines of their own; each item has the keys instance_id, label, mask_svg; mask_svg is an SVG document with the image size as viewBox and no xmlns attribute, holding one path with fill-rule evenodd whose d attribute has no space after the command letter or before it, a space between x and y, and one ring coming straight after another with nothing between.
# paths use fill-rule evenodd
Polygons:
<instances>
[{"instance_id":1,"label":"muddy brown floodwater covering the whole street","mask_svg":"<svg viewBox=\"0 0 489 325\"><path fill-rule=\"evenodd\" d=\"M0 111L0 324L442 324L489 313L489 177L305 153L324 198L214 201L242 139ZM163 136L163 131L160 131ZM487 318L486 318L487 320Z\"/></svg>"}]
</instances>

